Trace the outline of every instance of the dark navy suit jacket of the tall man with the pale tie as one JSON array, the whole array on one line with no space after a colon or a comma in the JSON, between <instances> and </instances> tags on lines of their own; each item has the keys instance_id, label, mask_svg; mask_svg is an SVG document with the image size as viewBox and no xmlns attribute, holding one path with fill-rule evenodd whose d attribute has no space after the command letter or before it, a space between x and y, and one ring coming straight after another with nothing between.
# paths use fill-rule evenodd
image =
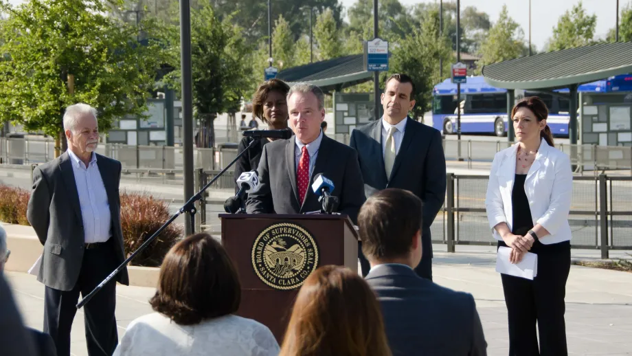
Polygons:
<instances>
[{"instance_id":1,"label":"dark navy suit jacket of the tall man with the pale tie","mask_svg":"<svg viewBox=\"0 0 632 356\"><path fill-rule=\"evenodd\" d=\"M430 225L445 200L446 168L441 133L406 118L406 129L391 177L386 177L382 153L382 120L351 133L350 146L358 151L367 197L385 188L413 192L423 201L422 247L432 257Z\"/></svg>"}]
</instances>

